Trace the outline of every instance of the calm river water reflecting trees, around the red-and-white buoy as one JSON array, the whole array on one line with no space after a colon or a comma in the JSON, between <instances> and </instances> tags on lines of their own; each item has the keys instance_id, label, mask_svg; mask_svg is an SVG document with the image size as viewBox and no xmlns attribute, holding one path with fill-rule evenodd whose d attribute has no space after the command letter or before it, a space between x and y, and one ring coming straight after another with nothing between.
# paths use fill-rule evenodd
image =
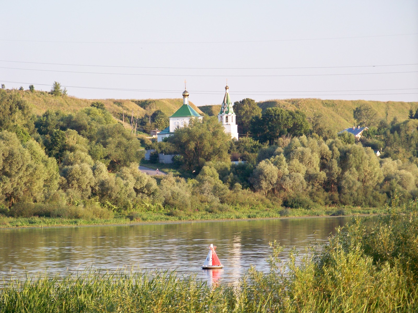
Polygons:
<instances>
[{"instance_id":1,"label":"calm river water reflecting trees, around the red-and-white buoy","mask_svg":"<svg viewBox=\"0 0 418 313\"><path fill-rule=\"evenodd\" d=\"M234 283L255 265L268 270L268 242L303 250L322 242L349 217L123 226L0 229L0 278L85 268L177 269L212 283ZM202 270L209 244L224 268ZM283 253L285 258L287 253Z\"/></svg>"}]
</instances>

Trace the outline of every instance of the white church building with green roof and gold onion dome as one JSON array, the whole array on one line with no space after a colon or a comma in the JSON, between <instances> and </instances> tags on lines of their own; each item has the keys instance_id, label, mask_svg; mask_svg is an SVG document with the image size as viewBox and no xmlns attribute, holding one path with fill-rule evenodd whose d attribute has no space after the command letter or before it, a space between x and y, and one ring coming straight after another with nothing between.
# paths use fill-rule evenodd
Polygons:
<instances>
[{"instance_id":1,"label":"white church building with green roof and gold onion dome","mask_svg":"<svg viewBox=\"0 0 418 313\"><path fill-rule=\"evenodd\" d=\"M184 88L183 105L173 115L169 116L170 126L157 134L157 141L163 141L163 138L173 135L176 129L188 127L191 118L196 118L201 121L203 116L189 105L189 92Z\"/></svg>"}]
</instances>

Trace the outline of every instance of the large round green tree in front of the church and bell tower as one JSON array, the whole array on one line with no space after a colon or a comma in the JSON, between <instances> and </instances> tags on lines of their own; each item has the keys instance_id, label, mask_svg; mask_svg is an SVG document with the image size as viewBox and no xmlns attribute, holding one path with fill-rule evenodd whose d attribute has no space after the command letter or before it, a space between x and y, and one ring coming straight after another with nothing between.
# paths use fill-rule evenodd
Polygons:
<instances>
[{"instance_id":1,"label":"large round green tree in front of the church and bell tower","mask_svg":"<svg viewBox=\"0 0 418 313\"><path fill-rule=\"evenodd\" d=\"M184 157L184 168L197 172L207 161L228 160L230 140L215 116L206 117L203 122L191 119L189 127L176 129L167 139Z\"/></svg>"}]
</instances>

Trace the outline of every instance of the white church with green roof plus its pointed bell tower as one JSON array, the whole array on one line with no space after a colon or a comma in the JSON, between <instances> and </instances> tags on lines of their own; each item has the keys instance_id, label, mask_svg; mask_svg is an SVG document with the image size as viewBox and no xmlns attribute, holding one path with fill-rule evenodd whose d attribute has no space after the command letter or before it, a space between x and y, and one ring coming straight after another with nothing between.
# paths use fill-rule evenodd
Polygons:
<instances>
[{"instance_id":1,"label":"white church with green roof plus its pointed bell tower","mask_svg":"<svg viewBox=\"0 0 418 313\"><path fill-rule=\"evenodd\" d=\"M218 114L218 121L224 126L225 133L231 134L231 138L238 140L238 128L237 124L235 124L236 115L232 108L228 89L228 85L225 86L225 96L224 101L222 101L221 110ZM199 119L201 121L203 116L197 113L196 110L189 105L189 92L184 88L183 105L169 117L170 126L157 134L157 141L163 141L163 138L173 135L176 129L188 127L191 118Z\"/></svg>"}]
</instances>

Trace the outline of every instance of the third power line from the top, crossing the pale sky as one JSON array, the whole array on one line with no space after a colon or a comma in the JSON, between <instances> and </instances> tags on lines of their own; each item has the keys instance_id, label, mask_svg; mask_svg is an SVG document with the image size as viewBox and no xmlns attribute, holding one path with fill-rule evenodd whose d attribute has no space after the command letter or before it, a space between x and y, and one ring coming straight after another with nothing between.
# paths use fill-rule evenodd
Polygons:
<instances>
[{"instance_id":1,"label":"third power line from the top, crossing the pale sky","mask_svg":"<svg viewBox=\"0 0 418 313\"><path fill-rule=\"evenodd\" d=\"M300 77L300 76L344 76L344 75L377 75L377 74L401 74L401 73L418 73L418 71L404 72L380 72L380 73L337 73L337 74L292 74L292 75L177 75L177 74L139 74L139 73L100 73L100 72L79 72L79 71L58 71L58 70L40 70L33 68L12 68L2 67L12 70L23 71L41 71L41 72L58 72L58 73L79 73L79 74L102 74L102 75L133 75L133 76L174 76L174 77Z\"/></svg>"}]
</instances>

